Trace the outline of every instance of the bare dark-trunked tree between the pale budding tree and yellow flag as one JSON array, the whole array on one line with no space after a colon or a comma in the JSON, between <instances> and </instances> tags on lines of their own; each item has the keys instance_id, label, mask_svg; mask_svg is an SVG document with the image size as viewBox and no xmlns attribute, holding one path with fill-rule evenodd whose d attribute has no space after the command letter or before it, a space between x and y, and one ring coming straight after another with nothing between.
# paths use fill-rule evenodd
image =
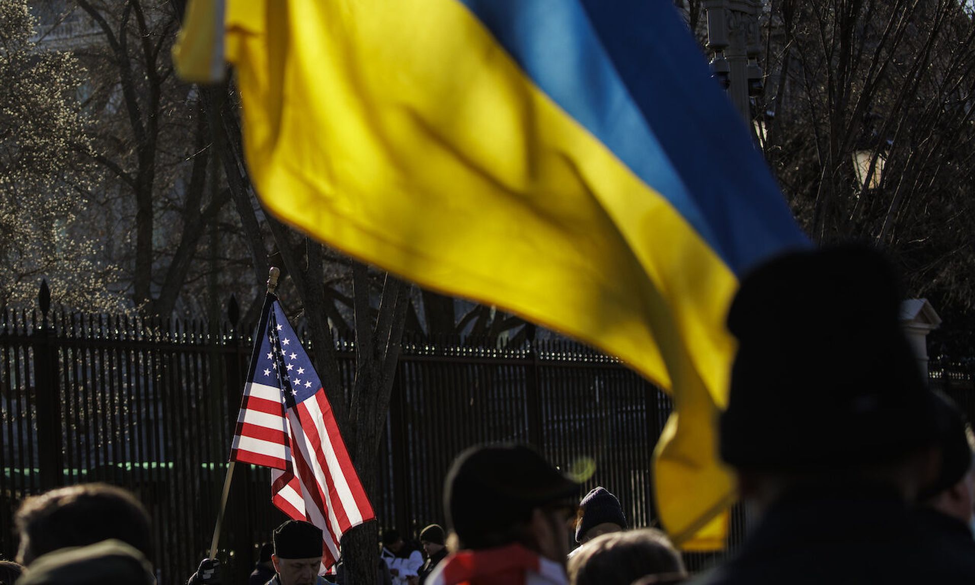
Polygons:
<instances>
[{"instance_id":1,"label":"bare dark-trunked tree between the pale budding tree and yellow flag","mask_svg":"<svg viewBox=\"0 0 975 585\"><path fill-rule=\"evenodd\" d=\"M205 99L173 75L172 7L141 0L76 6L99 33L74 52L93 72L85 105L96 118L92 160L103 179L95 196L120 232L107 254L127 268L132 302L146 315L169 316L179 306L199 314L215 310L221 290L255 290L254 258L211 160Z\"/></svg>"}]
</instances>

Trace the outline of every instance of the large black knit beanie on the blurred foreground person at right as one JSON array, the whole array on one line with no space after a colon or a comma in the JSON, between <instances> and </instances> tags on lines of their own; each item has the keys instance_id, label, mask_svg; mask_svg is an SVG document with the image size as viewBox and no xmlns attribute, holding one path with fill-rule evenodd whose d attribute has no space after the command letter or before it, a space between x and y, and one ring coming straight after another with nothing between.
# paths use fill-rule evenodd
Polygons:
<instances>
[{"instance_id":1,"label":"large black knit beanie on the blurred foreground person at right","mask_svg":"<svg viewBox=\"0 0 975 585\"><path fill-rule=\"evenodd\" d=\"M886 260L864 247L786 254L741 283L721 454L789 471L893 461L936 435L935 400L901 331Z\"/></svg>"}]
</instances>

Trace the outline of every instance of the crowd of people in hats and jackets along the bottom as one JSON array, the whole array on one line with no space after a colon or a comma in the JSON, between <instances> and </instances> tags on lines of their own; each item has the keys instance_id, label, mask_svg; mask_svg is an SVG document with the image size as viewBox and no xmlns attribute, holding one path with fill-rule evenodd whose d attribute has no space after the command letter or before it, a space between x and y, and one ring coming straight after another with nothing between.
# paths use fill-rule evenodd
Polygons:
<instances>
[{"instance_id":1,"label":"crowd of people in hats and jackets along the bottom","mask_svg":"<svg viewBox=\"0 0 975 585\"><path fill-rule=\"evenodd\" d=\"M610 490L582 495L529 446L483 445L451 465L446 528L420 531L422 553L382 532L375 584L975 583L975 438L927 388L900 299L889 265L861 248L788 254L741 283L718 447L753 527L721 565L688 575L666 534L629 526ZM0 563L0 585L154 582L149 519L123 489L33 496L16 522L17 563ZM250 584L358 585L342 564L319 575L321 560L321 530L288 521ZM213 559L189 579L217 584Z\"/></svg>"}]
</instances>

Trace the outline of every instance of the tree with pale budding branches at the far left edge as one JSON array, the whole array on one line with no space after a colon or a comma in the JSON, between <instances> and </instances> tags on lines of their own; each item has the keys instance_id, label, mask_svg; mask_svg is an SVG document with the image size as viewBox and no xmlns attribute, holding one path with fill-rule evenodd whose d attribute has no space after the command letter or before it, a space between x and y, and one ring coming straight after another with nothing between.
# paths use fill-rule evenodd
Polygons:
<instances>
[{"instance_id":1,"label":"tree with pale budding branches at the far left edge","mask_svg":"<svg viewBox=\"0 0 975 585\"><path fill-rule=\"evenodd\" d=\"M32 299L42 277L74 307L116 310L84 229L91 139L76 59L40 50L25 0L0 3L0 304Z\"/></svg>"}]
</instances>

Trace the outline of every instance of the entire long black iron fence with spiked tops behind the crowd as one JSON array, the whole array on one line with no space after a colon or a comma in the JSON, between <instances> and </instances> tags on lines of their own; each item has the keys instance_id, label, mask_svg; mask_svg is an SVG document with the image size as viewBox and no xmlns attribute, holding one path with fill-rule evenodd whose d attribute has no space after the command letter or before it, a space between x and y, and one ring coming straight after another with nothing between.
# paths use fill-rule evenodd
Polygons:
<instances>
[{"instance_id":1,"label":"entire long black iron fence with spiked tops behind the crowd","mask_svg":"<svg viewBox=\"0 0 975 585\"><path fill-rule=\"evenodd\" d=\"M353 347L337 348L348 387ZM159 582L183 582L210 543L250 351L250 336L228 325L50 313L43 303L0 313L0 555L16 552L12 516L24 496L104 481L148 508ZM975 415L970 375L938 370L932 383ZM616 493L634 526L652 526L650 453L670 408L640 376L575 343L407 340L372 503L382 526L416 534L443 522L457 452L526 441L588 477L586 487ZM266 469L237 467L221 536L237 582L284 520L268 484ZM743 526L736 512L732 545ZM692 567L709 560L688 557Z\"/></svg>"}]
</instances>

